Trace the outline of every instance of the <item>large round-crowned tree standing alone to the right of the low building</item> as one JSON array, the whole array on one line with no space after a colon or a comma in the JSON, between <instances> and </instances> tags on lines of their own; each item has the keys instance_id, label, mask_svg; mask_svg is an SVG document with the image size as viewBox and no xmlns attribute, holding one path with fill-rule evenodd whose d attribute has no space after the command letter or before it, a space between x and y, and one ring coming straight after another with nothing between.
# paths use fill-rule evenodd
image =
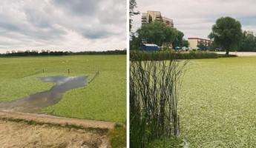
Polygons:
<instances>
[{"instance_id":1,"label":"large round-crowned tree standing alone to the right of the low building","mask_svg":"<svg viewBox=\"0 0 256 148\"><path fill-rule=\"evenodd\" d=\"M221 17L213 25L209 38L213 38L215 44L225 49L228 55L230 49L238 47L242 35L240 21L231 17Z\"/></svg>"}]
</instances>

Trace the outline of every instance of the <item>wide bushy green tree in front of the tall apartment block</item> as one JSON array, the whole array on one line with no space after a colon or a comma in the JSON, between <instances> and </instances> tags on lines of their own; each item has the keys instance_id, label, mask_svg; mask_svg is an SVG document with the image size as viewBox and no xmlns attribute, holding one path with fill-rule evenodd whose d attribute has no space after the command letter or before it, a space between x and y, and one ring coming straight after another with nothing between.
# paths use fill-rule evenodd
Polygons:
<instances>
[{"instance_id":1,"label":"wide bushy green tree in front of the tall apartment block","mask_svg":"<svg viewBox=\"0 0 256 148\"><path fill-rule=\"evenodd\" d=\"M137 30L137 33L140 41L145 40L148 43L157 44L158 46L162 46L162 44L172 44L179 34L176 29L168 27L160 21L142 25L142 27Z\"/></svg>"}]
</instances>

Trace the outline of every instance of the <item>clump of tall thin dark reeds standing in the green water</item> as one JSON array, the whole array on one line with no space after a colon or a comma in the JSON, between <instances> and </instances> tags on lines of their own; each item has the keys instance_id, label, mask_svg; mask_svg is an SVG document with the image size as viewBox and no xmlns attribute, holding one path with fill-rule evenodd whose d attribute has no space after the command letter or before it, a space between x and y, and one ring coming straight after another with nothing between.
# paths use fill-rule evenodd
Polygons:
<instances>
[{"instance_id":1,"label":"clump of tall thin dark reeds standing in the green water","mask_svg":"<svg viewBox=\"0 0 256 148\"><path fill-rule=\"evenodd\" d=\"M179 135L177 112L180 84L188 61L130 62L130 146Z\"/></svg>"}]
</instances>

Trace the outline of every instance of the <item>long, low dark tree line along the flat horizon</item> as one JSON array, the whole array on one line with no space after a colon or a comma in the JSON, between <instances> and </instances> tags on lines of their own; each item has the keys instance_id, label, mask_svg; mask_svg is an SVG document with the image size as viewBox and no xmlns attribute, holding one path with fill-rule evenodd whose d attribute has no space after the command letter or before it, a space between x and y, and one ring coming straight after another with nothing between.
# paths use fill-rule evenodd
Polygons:
<instances>
[{"instance_id":1,"label":"long, low dark tree line along the flat horizon","mask_svg":"<svg viewBox=\"0 0 256 148\"><path fill-rule=\"evenodd\" d=\"M108 51L82 51L82 52L64 52L64 51L25 51L0 54L0 57L10 56L36 56L36 55L125 55L126 50L108 50Z\"/></svg>"}]
</instances>

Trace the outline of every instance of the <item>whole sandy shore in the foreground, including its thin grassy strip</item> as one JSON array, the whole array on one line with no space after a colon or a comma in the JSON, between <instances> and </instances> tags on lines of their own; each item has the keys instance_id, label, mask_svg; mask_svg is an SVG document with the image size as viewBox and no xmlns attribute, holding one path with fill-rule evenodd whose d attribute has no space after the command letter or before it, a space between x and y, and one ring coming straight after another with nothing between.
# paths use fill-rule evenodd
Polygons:
<instances>
[{"instance_id":1,"label":"whole sandy shore in the foreground, including its thin grassy strip","mask_svg":"<svg viewBox=\"0 0 256 148\"><path fill-rule=\"evenodd\" d=\"M109 148L113 122L61 118L19 112L0 112L1 148Z\"/></svg>"}]
</instances>

